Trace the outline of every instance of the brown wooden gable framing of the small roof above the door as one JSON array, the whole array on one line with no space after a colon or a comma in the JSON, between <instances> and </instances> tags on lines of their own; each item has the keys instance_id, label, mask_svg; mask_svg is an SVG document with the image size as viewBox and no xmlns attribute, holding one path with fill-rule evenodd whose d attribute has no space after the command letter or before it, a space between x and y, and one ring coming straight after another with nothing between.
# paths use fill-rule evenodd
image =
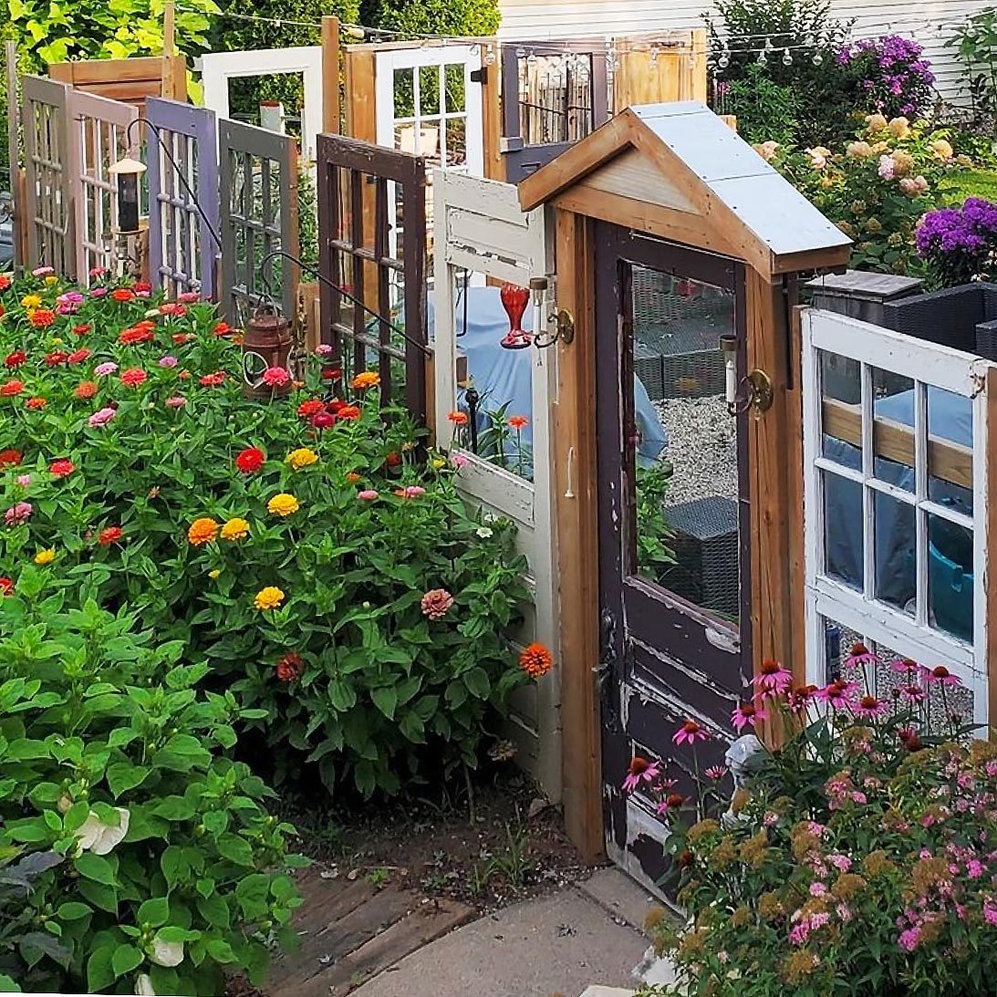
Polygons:
<instances>
[{"instance_id":1,"label":"brown wooden gable framing of the small roof above the door","mask_svg":"<svg viewBox=\"0 0 997 997\"><path fill-rule=\"evenodd\" d=\"M623 158L628 175L614 179L610 167ZM522 210L544 203L743 260L771 282L801 270L839 269L851 249L837 232L830 245L778 253L632 108L519 183Z\"/></svg>"}]
</instances>

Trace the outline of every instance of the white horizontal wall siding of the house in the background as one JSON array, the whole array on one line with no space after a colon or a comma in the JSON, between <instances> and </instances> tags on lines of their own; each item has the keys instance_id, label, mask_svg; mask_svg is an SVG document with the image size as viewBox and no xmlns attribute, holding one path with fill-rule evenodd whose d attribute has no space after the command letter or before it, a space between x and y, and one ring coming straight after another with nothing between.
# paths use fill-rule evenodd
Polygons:
<instances>
[{"instance_id":1,"label":"white horizontal wall siding of the house in the background","mask_svg":"<svg viewBox=\"0 0 997 997\"><path fill-rule=\"evenodd\" d=\"M993 0L831 0L831 9L842 20L857 18L857 38L895 33L915 38L924 46L937 87L948 100L959 96L959 64L944 46L956 24ZM654 31L676 31L703 26L709 5L697 0L571 0L543 3L537 0L500 0L502 22L499 38L505 41L540 41L549 38L623 36ZM940 30L939 30L940 29ZM801 39L802 41L802 39Z\"/></svg>"}]
</instances>

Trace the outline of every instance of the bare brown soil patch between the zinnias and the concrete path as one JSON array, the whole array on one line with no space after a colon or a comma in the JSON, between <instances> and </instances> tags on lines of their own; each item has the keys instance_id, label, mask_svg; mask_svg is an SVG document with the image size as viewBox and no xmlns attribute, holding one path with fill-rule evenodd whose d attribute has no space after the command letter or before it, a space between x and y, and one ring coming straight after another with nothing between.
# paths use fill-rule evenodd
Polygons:
<instances>
[{"instance_id":1,"label":"bare brown soil patch between the zinnias and the concrete path","mask_svg":"<svg viewBox=\"0 0 997 997\"><path fill-rule=\"evenodd\" d=\"M346 814L294 813L302 850L323 876L366 876L481 911L537 896L584 878L589 869L564 834L560 811L517 773L460 800L371 804Z\"/></svg>"}]
</instances>

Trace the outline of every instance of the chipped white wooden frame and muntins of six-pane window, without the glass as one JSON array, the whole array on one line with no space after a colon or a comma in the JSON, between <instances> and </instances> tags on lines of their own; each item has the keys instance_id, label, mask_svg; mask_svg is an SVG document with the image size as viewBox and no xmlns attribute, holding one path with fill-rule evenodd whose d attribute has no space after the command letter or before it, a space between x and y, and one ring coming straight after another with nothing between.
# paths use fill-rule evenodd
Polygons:
<instances>
[{"instance_id":1,"label":"chipped white wooden frame and muntins of six-pane window, without the glass","mask_svg":"<svg viewBox=\"0 0 997 997\"><path fill-rule=\"evenodd\" d=\"M974 717L986 724L987 599L987 361L960 350L914 339L889 329L831 312L804 309L804 535L807 584L807 678L826 680L825 627L828 618L924 664L948 666L973 693ZM861 364L861 470L823 456L823 384L821 354L827 352ZM874 477L872 368L909 378L914 384L913 493ZM973 510L966 515L928 498L927 389L960 395L972 405ZM854 482L862 491L863 591L858 592L825 573L824 475ZM914 618L875 598L875 493L913 507L915 515L917 611ZM973 640L967 643L929 626L927 620L927 518L936 515L973 533Z\"/></svg>"}]
</instances>

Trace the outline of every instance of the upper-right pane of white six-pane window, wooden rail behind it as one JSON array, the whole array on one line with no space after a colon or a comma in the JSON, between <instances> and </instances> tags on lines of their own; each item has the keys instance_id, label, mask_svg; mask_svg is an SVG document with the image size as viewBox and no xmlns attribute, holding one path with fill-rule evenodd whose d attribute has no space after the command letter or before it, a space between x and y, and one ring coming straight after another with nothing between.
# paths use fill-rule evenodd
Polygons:
<instances>
[{"instance_id":1,"label":"upper-right pane of white six-pane window, wooden rail behind it","mask_svg":"<svg viewBox=\"0 0 997 997\"><path fill-rule=\"evenodd\" d=\"M972 402L941 388L928 388L928 497L973 510Z\"/></svg>"}]
</instances>

